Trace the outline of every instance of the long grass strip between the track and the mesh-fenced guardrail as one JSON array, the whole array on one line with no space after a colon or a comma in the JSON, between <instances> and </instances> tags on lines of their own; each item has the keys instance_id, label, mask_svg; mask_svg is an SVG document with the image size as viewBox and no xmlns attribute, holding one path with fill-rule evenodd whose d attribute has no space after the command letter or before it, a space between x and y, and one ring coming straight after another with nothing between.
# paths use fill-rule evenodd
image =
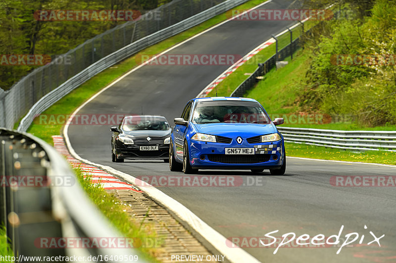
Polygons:
<instances>
[{"instance_id":1,"label":"long grass strip between the track and the mesh-fenced guardrail","mask_svg":"<svg viewBox=\"0 0 396 263\"><path fill-rule=\"evenodd\" d=\"M250 0L244 4L241 4L233 9L249 9L259 3L264 2L264 0ZM77 107L83 104L86 100L92 97L94 94L99 92L103 87L110 84L119 76L125 74L126 72L130 71L134 67L138 66L141 55L147 54L158 54L169 47L180 43L188 38L197 35L198 33L226 20L229 18L230 12L225 12L219 14L198 26L195 26L189 30L186 30L176 36L171 38L167 38L155 45L152 45L132 57L104 70L103 72L99 73L98 75L92 77L87 82L80 85L78 88L70 92L68 95L60 99L54 105L52 105L49 109L47 109L42 114L62 114L67 115L74 112ZM42 122L40 123L39 117L35 118L33 124L29 127L27 132L43 139L50 145L53 145L52 142L52 135L60 134L60 131L63 127L64 123L56 123L54 122Z\"/></svg>"}]
</instances>

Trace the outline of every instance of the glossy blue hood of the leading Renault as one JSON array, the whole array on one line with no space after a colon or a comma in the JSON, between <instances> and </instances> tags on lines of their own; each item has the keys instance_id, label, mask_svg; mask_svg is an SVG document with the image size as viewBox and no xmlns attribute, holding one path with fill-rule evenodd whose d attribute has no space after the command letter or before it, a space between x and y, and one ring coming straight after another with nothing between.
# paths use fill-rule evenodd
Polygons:
<instances>
[{"instance_id":1,"label":"glossy blue hood of the leading Renault","mask_svg":"<svg viewBox=\"0 0 396 263\"><path fill-rule=\"evenodd\" d=\"M231 136L256 136L276 133L275 126L271 124L252 124L252 123L207 123L194 124L199 133Z\"/></svg>"}]
</instances>

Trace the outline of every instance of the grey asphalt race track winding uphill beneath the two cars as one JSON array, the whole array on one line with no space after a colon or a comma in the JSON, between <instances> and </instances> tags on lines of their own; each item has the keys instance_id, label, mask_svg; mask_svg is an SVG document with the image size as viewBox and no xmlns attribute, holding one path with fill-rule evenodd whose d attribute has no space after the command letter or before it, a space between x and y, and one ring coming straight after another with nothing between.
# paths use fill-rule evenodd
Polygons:
<instances>
[{"instance_id":1,"label":"grey asphalt race track winding uphill beneath the two cars","mask_svg":"<svg viewBox=\"0 0 396 263\"><path fill-rule=\"evenodd\" d=\"M292 2L274 0L260 8L293 8L289 6ZM169 53L243 56L288 25L290 21L230 21ZM164 115L172 122L180 116L189 99L196 97L228 67L147 65L101 93L79 113L140 114L143 107L145 114ZM82 158L135 177L182 176L182 173L170 172L168 164L162 161L111 162L110 126L70 125L68 136L72 147ZM249 171L198 172L202 176L242 178L245 186L159 189L223 236L239 237L240 241L247 242L239 244L261 262L396 262L395 188L336 187L330 183L333 176L395 176L396 168L296 158L288 158L287 162L284 176L271 176L267 171L260 175ZM279 230L272 234L276 237L289 232L297 236L323 234L328 237L337 235L342 225L341 238L351 232L358 232L359 237L354 245L342 248L339 255L336 254L339 247L293 246L281 247L274 255L276 246L263 248L254 239L275 230ZM376 237L385 234L379 240L381 247L376 242L367 245L374 239L370 231ZM363 241L358 244L362 234Z\"/></svg>"}]
</instances>

